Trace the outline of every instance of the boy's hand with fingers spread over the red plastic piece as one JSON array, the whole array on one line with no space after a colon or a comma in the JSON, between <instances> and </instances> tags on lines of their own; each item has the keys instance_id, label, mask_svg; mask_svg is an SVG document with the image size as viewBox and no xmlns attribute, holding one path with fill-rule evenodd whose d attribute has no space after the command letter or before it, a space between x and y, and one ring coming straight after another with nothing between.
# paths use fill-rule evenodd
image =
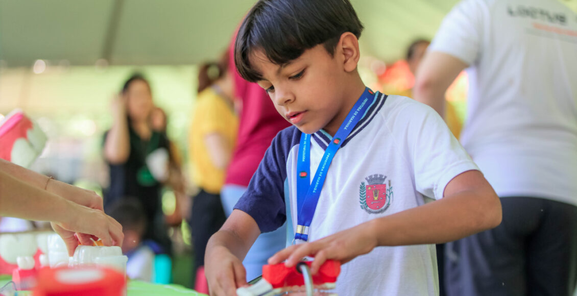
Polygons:
<instances>
[{"instance_id":1,"label":"boy's hand with fingers spread over the red plastic piece","mask_svg":"<svg viewBox=\"0 0 577 296\"><path fill-rule=\"evenodd\" d=\"M310 271L314 274L328 259L338 260L341 264L353 258L369 253L377 246L372 221L365 222L340 231L318 241L301 243L280 250L268 259L268 264L278 264L283 260L286 267L293 267L306 256L314 257Z\"/></svg>"}]
</instances>

